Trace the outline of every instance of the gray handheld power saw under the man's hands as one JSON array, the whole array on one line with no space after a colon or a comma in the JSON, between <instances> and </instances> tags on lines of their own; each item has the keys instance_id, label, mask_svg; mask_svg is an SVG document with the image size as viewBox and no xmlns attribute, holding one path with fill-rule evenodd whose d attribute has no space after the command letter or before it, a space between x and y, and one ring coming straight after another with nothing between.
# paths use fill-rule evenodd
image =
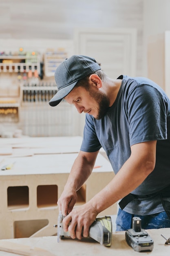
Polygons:
<instances>
[{"instance_id":1,"label":"gray handheld power saw under the man's hands","mask_svg":"<svg viewBox=\"0 0 170 256\"><path fill-rule=\"evenodd\" d=\"M64 232L62 220L65 216L59 212L57 225L57 242L64 237L69 237L69 232ZM110 216L104 216L101 218L96 218L95 221L89 228L89 237L93 238L101 245L111 246L112 243L112 220Z\"/></svg>"}]
</instances>

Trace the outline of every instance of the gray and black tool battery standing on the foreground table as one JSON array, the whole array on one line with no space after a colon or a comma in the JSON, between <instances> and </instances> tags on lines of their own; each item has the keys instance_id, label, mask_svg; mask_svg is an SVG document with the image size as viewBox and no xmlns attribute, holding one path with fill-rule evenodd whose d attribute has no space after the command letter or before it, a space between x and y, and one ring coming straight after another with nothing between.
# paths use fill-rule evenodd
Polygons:
<instances>
[{"instance_id":1,"label":"gray and black tool battery standing on the foreground table","mask_svg":"<svg viewBox=\"0 0 170 256\"><path fill-rule=\"evenodd\" d=\"M126 230L126 242L136 252L152 251L153 240L146 230L141 229L141 218L132 218L132 229Z\"/></svg>"}]
</instances>

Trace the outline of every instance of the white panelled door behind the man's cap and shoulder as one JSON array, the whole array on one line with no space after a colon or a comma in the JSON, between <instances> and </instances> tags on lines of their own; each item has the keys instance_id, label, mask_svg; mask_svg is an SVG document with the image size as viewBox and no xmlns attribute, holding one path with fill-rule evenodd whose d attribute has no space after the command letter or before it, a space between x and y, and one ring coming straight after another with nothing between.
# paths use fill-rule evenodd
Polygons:
<instances>
[{"instance_id":1,"label":"white panelled door behind the man's cap and shoulder","mask_svg":"<svg viewBox=\"0 0 170 256\"><path fill-rule=\"evenodd\" d=\"M137 29L81 28L75 30L75 53L95 58L102 70L112 78L121 74L136 75ZM79 130L84 130L85 115L81 115Z\"/></svg>"}]
</instances>

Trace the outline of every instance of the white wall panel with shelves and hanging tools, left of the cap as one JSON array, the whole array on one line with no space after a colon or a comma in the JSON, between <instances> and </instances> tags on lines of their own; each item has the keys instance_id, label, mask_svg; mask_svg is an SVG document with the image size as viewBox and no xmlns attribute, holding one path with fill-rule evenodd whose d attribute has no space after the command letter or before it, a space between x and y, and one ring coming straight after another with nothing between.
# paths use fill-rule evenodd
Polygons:
<instances>
[{"instance_id":1,"label":"white wall panel with shelves and hanging tools, left of the cap","mask_svg":"<svg viewBox=\"0 0 170 256\"><path fill-rule=\"evenodd\" d=\"M15 136L17 130L32 137L80 135L73 106L65 101L57 109L49 106L57 91L54 71L72 54L72 40L0 39L1 137Z\"/></svg>"}]
</instances>

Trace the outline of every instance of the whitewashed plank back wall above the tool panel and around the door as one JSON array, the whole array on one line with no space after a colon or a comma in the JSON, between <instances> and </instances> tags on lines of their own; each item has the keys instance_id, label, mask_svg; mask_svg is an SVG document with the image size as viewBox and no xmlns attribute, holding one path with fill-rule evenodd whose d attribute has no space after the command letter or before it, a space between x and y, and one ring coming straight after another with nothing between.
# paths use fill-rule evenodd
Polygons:
<instances>
[{"instance_id":1,"label":"whitewashed plank back wall above the tool panel and around the door","mask_svg":"<svg viewBox=\"0 0 170 256\"><path fill-rule=\"evenodd\" d=\"M143 0L0 0L1 39L72 40L75 28L137 28L137 75L143 23Z\"/></svg>"}]
</instances>

